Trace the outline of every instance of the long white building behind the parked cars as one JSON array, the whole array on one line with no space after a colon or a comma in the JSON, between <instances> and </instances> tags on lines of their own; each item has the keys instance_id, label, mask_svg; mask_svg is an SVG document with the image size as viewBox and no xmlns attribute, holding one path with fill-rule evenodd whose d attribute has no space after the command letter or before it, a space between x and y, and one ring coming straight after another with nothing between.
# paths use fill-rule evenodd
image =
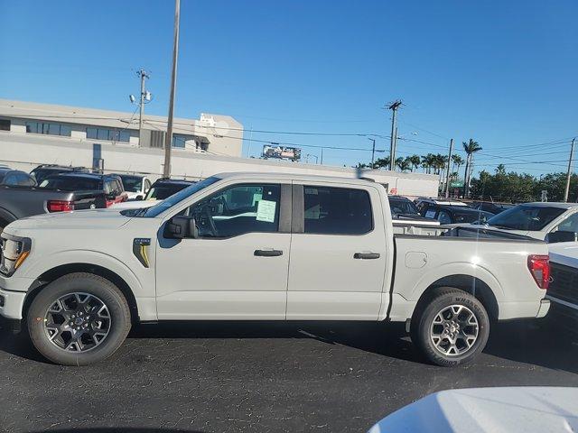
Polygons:
<instances>
[{"instance_id":1,"label":"long white building behind the parked cars","mask_svg":"<svg viewBox=\"0 0 578 433\"><path fill-rule=\"evenodd\" d=\"M166 117L0 99L0 163L30 171L39 164L106 172L163 173ZM203 179L223 171L266 171L355 177L356 170L301 162L241 158L243 125L227 115L174 120L171 173ZM439 179L422 173L364 170L394 194L437 196Z\"/></svg>"}]
</instances>

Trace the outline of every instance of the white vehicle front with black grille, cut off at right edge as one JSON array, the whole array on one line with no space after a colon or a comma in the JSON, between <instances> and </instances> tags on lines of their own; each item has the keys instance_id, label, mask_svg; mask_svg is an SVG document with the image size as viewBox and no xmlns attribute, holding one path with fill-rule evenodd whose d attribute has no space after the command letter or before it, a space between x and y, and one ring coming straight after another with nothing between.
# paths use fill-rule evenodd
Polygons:
<instances>
[{"instance_id":1,"label":"white vehicle front with black grille, cut off at right edge","mask_svg":"<svg viewBox=\"0 0 578 433\"><path fill-rule=\"evenodd\" d=\"M562 321L578 331L578 243L564 242L548 246L551 281L546 297L553 301L553 309L548 317Z\"/></svg>"}]
</instances>

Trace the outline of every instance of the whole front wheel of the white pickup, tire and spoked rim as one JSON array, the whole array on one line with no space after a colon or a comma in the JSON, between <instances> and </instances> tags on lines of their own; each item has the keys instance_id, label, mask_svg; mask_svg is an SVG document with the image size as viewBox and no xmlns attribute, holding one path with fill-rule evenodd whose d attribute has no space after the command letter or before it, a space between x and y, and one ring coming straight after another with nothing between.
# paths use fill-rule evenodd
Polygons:
<instances>
[{"instance_id":1,"label":"whole front wheel of the white pickup, tire and spoked rim","mask_svg":"<svg viewBox=\"0 0 578 433\"><path fill-rule=\"evenodd\" d=\"M112 282L91 273L52 281L33 299L27 316L36 349L61 365L106 359L125 341L130 309Z\"/></svg>"}]
</instances>

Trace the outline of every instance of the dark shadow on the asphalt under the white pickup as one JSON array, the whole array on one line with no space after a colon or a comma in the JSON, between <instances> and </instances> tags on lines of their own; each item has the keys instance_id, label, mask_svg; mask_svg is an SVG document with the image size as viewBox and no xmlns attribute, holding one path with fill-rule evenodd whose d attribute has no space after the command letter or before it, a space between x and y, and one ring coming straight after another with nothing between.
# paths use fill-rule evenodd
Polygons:
<instances>
[{"instance_id":1,"label":"dark shadow on the asphalt under the white pickup","mask_svg":"<svg viewBox=\"0 0 578 433\"><path fill-rule=\"evenodd\" d=\"M401 362L424 364L403 324L367 322L194 321L163 322L134 327L128 336L138 340L313 339L328 346L343 345ZM171 342L168 342L171 344ZM175 341L175 346L178 344ZM145 347L145 346L144 346ZM319 346L319 350L323 350ZM145 350L145 349L144 349ZM25 334L13 335L0 322L0 351L50 364L33 348ZM578 333L552 320L518 320L492 329L484 351L506 360L578 373ZM483 362L483 361L482 361Z\"/></svg>"}]
</instances>

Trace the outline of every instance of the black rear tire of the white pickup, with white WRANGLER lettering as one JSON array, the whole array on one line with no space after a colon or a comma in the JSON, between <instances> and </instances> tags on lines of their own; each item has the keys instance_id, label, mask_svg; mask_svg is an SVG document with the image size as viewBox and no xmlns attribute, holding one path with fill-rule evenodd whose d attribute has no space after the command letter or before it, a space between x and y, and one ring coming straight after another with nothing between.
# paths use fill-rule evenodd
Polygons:
<instances>
[{"instance_id":1,"label":"black rear tire of the white pickup, with white WRANGLER lettering","mask_svg":"<svg viewBox=\"0 0 578 433\"><path fill-rule=\"evenodd\" d=\"M418 308L415 310L414 318L410 327L411 337L414 344L424 357L432 364L441 365L443 367L453 367L459 364L470 362L477 355L480 355L488 343L489 336L489 316L481 302L463 290L454 289L451 287L441 287L434 290L424 302L420 302ZM446 313L452 314L452 306L461 306L465 309L461 310L461 318L449 316L451 320L443 321L443 324L433 324L433 320L438 317L444 310ZM468 311L469 310L469 311ZM471 336L474 334L474 329L477 328L475 341L466 342L464 333L455 331L452 323L457 323L462 329L464 322L462 319L465 315L472 313L472 316L477 322L477 326L467 325L467 334ZM473 319L471 319L473 321ZM447 330L446 330L447 326ZM454 348L451 347L451 340L449 336L441 338L441 344L438 347L433 342L435 338L433 334L437 334L440 330L450 333L453 331L453 336L461 336L458 343L455 343ZM471 339L471 338L470 338ZM440 340L438 340L440 341ZM471 344L471 345L470 345ZM456 353L448 353L454 351ZM461 352L462 351L462 352ZM444 353L445 352L445 353Z\"/></svg>"}]
</instances>

